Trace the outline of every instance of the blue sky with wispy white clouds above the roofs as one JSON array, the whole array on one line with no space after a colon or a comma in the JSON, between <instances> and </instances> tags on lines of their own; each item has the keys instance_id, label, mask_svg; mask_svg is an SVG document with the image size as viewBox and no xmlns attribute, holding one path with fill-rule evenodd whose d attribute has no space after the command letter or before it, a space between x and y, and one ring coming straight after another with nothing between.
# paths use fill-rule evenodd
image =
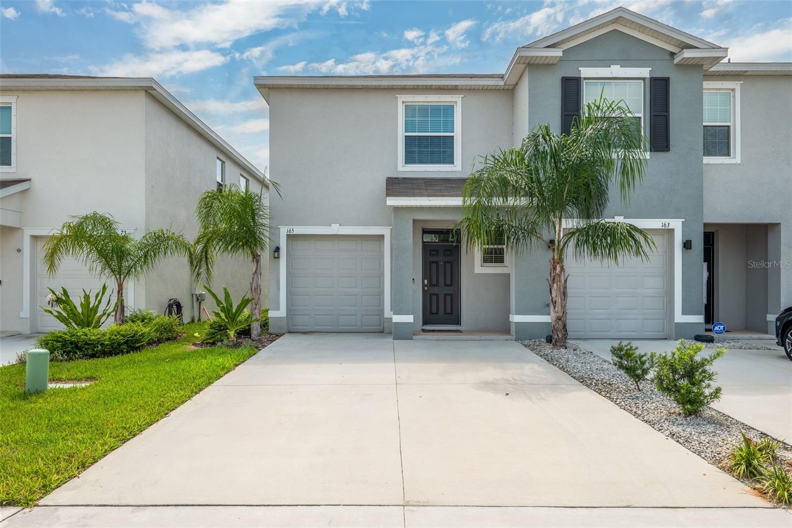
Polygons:
<instances>
[{"instance_id":1,"label":"blue sky with wispy white clouds above the roofs","mask_svg":"<svg viewBox=\"0 0 792 528\"><path fill-rule=\"evenodd\" d=\"M734 61L792 61L788 0L2 0L0 70L154 77L263 169L268 109L253 75L502 73L516 47L616 6Z\"/></svg>"}]
</instances>

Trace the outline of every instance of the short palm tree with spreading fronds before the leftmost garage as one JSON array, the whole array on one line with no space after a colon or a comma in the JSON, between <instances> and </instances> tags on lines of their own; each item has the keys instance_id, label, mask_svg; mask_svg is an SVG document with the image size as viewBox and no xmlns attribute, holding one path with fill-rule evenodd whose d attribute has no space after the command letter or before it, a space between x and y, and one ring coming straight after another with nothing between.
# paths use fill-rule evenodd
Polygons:
<instances>
[{"instance_id":1,"label":"short palm tree with spreading fronds before the leftmost garage","mask_svg":"<svg viewBox=\"0 0 792 528\"><path fill-rule=\"evenodd\" d=\"M173 254L188 256L192 247L181 233L166 229L148 231L139 239L121 232L109 213L89 212L71 216L44 243L44 266L50 275L57 273L63 258L82 261L92 274L116 281L114 320L124 323L124 282L144 277L162 258Z\"/></svg>"}]
</instances>

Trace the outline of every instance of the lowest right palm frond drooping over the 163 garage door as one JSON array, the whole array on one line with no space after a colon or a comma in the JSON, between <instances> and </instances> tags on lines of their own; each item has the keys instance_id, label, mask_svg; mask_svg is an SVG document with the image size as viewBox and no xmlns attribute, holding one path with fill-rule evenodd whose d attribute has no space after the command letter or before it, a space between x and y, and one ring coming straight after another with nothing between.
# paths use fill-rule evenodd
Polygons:
<instances>
[{"instance_id":1,"label":"lowest right palm frond drooping over the 163 garage door","mask_svg":"<svg viewBox=\"0 0 792 528\"><path fill-rule=\"evenodd\" d=\"M569 247L572 249L573 257L578 260L583 258L600 262L608 260L618 266L619 258L649 259L649 252L655 251L657 244L651 236L633 224L594 220L565 232L558 251L564 254Z\"/></svg>"}]
</instances>

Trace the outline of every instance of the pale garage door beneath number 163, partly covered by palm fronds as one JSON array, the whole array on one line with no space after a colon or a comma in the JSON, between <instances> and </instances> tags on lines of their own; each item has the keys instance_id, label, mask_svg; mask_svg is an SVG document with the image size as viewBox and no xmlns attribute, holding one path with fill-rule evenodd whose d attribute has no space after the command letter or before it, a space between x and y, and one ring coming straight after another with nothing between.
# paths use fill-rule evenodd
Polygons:
<instances>
[{"instance_id":1,"label":"pale garage door beneath number 163, partly covered by palm fronds","mask_svg":"<svg viewBox=\"0 0 792 528\"><path fill-rule=\"evenodd\" d=\"M665 339L668 337L668 235L647 231L657 251L649 262L615 264L567 256L567 327L571 338Z\"/></svg>"}]
</instances>

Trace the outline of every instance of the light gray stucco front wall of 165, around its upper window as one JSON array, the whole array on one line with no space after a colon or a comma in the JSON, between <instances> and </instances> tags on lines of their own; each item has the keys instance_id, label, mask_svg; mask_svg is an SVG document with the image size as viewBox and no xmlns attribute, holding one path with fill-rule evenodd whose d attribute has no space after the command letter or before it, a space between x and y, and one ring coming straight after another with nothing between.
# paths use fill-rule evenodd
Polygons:
<instances>
[{"instance_id":1,"label":"light gray stucco front wall of 165, around its upper window","mask_svg":"<svg viewBox=\"0 0 792 528\"><path fill-rule=\"evenodd\" d=\"M407 94L463 95L463 170L398 170L396 96ZM475 155L508 147L512 143L511 90L272 89L269 104L272 179L280 183L283 193L283 200L272 199L273 225L393 226L392 306L394 313L412 313L413 291L406 282L413 277L412 220L404 231L396 228L398 211L385 203L385 178L464 177ZM459 216L459 209L455 214ZM409 239L409 247L398 245L400 233ZM278 230L273 230L273 236L280 236ZM419 266L420 257L420 252L415 255ZM279 265L270 255L273 309L280 304Z\"/></svg>"}]
</instances>

